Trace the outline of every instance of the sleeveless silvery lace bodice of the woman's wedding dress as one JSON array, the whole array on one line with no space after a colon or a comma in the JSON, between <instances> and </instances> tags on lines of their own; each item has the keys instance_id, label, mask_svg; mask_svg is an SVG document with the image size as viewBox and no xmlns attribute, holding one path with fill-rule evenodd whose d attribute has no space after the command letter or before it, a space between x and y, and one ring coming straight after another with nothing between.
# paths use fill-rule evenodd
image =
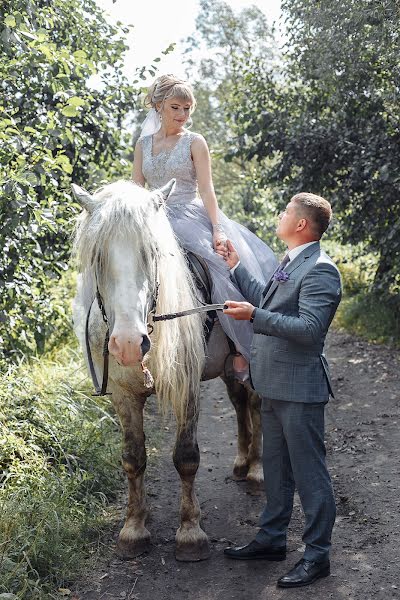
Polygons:
<instances>
[{"instance_id":1,"label":"sleeveless silvery lace bodice of the woman's wedding dress","mask_svg":"<svg viewBox=\"0 0 400 600\"><path fill-rule=\"evenodd\" d=\"M199 134L186 131L173 148L162 150L154 156L153 136L141 138L142 172L150 189L162 187L170 179L176 179L176 186L168 198L168 204L186 204L197 197L196 169L190 147Z\"/></svg>"}]
</instances>

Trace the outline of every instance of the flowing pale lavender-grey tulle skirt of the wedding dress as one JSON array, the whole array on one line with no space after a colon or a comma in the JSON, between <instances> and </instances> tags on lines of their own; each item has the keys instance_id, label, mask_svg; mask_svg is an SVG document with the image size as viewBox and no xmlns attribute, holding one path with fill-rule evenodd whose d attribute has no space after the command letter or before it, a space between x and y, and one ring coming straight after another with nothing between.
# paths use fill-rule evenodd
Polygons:
<instances>
[{"instance_id":1,"label":"flowing pale lavender-grey tulle skirt of the wedding dress","mask_svg":"<svg viewBox=\"0 0 400 600\"><path fill-rule=\"evenodd\" d=\"M196 198L187 203L167 203L167 214L182 246L207 262L213 282L212 302L246 300L232 281L226 262L213 248L212 226L201 199ZM240 262L253 277L265 284L278 264L272 250L243 225L228 219L222 211L219 211L219 221L237 249ZM220 311L217 314L226 335L249 360L252 324L249 321L235 321Z\"/></svg>"}]
</instances>

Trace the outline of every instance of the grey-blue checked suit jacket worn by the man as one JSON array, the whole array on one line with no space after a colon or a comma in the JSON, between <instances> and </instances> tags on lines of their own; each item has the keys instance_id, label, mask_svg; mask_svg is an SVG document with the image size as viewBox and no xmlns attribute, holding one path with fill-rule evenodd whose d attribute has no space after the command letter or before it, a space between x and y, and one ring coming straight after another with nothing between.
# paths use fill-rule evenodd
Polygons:
<instances>
[{"instance_id":1,"label":"grey-blue checked suit jacket worn by the man","mask_svg":"<svg viewBox=\"0 0 400 600\"><path fill-rule=\"evenodd\" d=\"M324 342L341 299L340 274L319 242L285 271L289 279L263 285L240 264L234 271L243 295L258 306L250 372L255 390L273 400L327 402L333 396Z\"/></svg>"}]
</instances>

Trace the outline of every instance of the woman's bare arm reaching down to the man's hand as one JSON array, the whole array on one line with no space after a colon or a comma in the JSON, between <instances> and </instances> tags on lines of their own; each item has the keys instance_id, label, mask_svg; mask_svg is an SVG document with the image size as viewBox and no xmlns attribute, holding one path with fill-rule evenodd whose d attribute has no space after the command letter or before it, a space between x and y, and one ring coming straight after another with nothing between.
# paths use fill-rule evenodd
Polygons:
<instances>
[{"instance_id":1,"label":"woman's bare arm reaching down to the man's hand","mask_svg":"<svg viewBox=\"0 0 400 600\"><path fill-rule=\"evenodd\" d=\"M193 140L191 150L193 164L196 169L199 194L213 227L214 249L218 254L221 254L221 256L225 256L226 235L218 221L218 201L215 196L214 184L212 181L211 159L207 142L202 136L198 136Z\"/></svg>"}]
</instances>

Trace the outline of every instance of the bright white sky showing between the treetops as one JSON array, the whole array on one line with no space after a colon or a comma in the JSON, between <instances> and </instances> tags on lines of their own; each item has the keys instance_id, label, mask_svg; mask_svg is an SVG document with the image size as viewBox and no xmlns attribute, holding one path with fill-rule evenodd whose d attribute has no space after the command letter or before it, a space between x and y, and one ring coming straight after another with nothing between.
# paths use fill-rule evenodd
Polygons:
<instances>
[{"instance_id":1,"label":"bright white sky showing between the treetops","mask_svg":"<svg viewBox=\"0 0 400 600\"><path fill-rule=\"evenodd\" d=\"M270 24L279 22L280 0L225 0L234 11L256 5L267 16ZM198 0L96 0L104 9L108 20L132 24L128 35L129 52L126 56L125 72L134 77L136 67L149 66L156 57L162 57L159 73L174 73L185 77L182 64L183 46L180 40L195 31L195 19L199 11ZM172 42L176 49L168 56L161 52ZM149 83L149 81L141 82Z\"/></svg>"}]
</instances>

